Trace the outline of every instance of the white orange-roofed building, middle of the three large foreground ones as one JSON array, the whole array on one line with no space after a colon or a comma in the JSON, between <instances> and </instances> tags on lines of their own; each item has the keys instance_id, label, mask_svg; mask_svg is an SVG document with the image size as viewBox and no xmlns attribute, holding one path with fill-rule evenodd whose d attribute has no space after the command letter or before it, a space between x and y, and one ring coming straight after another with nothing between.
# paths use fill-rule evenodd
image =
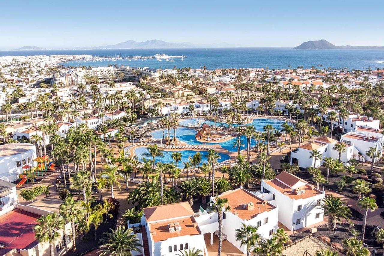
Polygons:
<instances>
[{"instance_id":1,"label":"white orange-roofed building, middle of the three large foreground ones","mask_svg":"<svg viewBox=\"0 0 384 256\"><path fill-rule=\"evenodd\" d=\"M278 228L278 206L260 199L252 192L235 189L224 192L218 197L227 198L230 207L229 211L223 213L223 236L243 253L247 252L247 247L240 246L240 241L236 240L236 229L242 227L243 223L256 226L262 238L270 238ZM215 202L216 198L211 197L211 201ZM211 244L212 241L211 233Z\"/></svg>"}]
</instances>

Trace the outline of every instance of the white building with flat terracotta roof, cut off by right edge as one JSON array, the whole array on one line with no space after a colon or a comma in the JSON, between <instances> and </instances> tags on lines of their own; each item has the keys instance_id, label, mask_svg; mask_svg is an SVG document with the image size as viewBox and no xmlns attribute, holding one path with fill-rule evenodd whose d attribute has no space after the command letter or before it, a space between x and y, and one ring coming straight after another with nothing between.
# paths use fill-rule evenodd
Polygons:
<instances>
[{"instance_id":1,"label":"white building with flat terracotta roof, cut off by right edge","mask_svg":"<svg viewBox=\"0 0 384 256\"><path fill-rule=\"evenodd\" d=\"M358 153L356 154L358 159L362 162L365 160L372 161L372 158L367 155L367 151L370 147L376 148L380 154L383 151L384 136L373 131L364 131L367 128L358 128L359 133L349 131L348 133L341 135L341 141L344 143L354 144Z\"/></svg>"}]
</instances>

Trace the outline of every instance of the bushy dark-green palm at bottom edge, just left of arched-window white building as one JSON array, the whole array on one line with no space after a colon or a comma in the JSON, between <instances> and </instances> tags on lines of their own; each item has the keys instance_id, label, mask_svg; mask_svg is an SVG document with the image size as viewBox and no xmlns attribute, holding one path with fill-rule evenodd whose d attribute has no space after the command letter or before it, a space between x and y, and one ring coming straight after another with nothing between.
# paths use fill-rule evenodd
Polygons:
<instances>
[{"instance_id":1,"label":"bushy dark-green palm at bottom edge, just left of arched-window white building","mask_svg":"<svg viewBox=\"0 0 384 256\"><path fill-rule=\"evenodd\" d=\"M124 225L120 225L111 232L104 232L105 237L100 239L103 245L100 246L99 252L101 256L104 255L126 255L132 256L132 251L141 253L138 247L141 247L139 239L131 228L125 229Z\"/></svg>"}]
</instances>

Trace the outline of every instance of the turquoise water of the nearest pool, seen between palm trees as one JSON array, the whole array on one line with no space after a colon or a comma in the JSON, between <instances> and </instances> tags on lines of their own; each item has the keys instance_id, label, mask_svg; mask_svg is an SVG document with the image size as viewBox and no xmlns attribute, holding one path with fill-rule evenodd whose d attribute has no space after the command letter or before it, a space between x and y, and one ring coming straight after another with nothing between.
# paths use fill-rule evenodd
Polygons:
<instances>
[{"instance_id":1,"label":"turquoise water of the nearest pool, seen between palm trees","mask_svg":"<svg viewBox=\"0 0 384 256\"><path fill-rule=\"evenodd\" d=\"M147 148L146 147L139 147L139 148L134 149L133 152L139 158L139 160L141 160L143 157L142 155L147 152ZM178 162L178 167L180 168L180 167L184 167L183 162L189 161L188 157L193 156L194 154L196 154L197 151L182 150L179 152L181 153L181 161ZM201 162L200 162L200 165L201 165L203 162L207 162L208 151L199 151L199 152L202 154ZM171 157L172 151L163 151L163 154L164 154L164 157L163 158L157 157L157 158L155 158L156 161L167 162L167 163L174 162L174 160ZM219 155L221 158L217 160L218 162L223 162L223 161L230 159L230 156L228 156L226 154L219 153ZM144 158L149 158L149 157L144 157Z\"/></svg>"}]
</instances>

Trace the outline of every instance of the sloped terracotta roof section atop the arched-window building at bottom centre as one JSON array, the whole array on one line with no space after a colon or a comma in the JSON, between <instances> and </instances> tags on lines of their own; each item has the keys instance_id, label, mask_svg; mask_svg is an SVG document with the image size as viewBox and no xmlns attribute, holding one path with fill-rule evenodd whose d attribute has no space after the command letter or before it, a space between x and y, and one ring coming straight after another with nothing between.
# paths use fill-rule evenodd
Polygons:
<instances>
[{"instance_id":1,"label":"sloped terracotta roof section atop the arched-window building at bottom centre","mask_svg":"<svg viewBox=\"0 0 384 256\"><path fill-rule=\"evenodd\" d=\"M191 216L194 215L194 212L188 202L181 202L144 208L144 215L147 222L153 222Z\"/></svg>"}]
</instances>

